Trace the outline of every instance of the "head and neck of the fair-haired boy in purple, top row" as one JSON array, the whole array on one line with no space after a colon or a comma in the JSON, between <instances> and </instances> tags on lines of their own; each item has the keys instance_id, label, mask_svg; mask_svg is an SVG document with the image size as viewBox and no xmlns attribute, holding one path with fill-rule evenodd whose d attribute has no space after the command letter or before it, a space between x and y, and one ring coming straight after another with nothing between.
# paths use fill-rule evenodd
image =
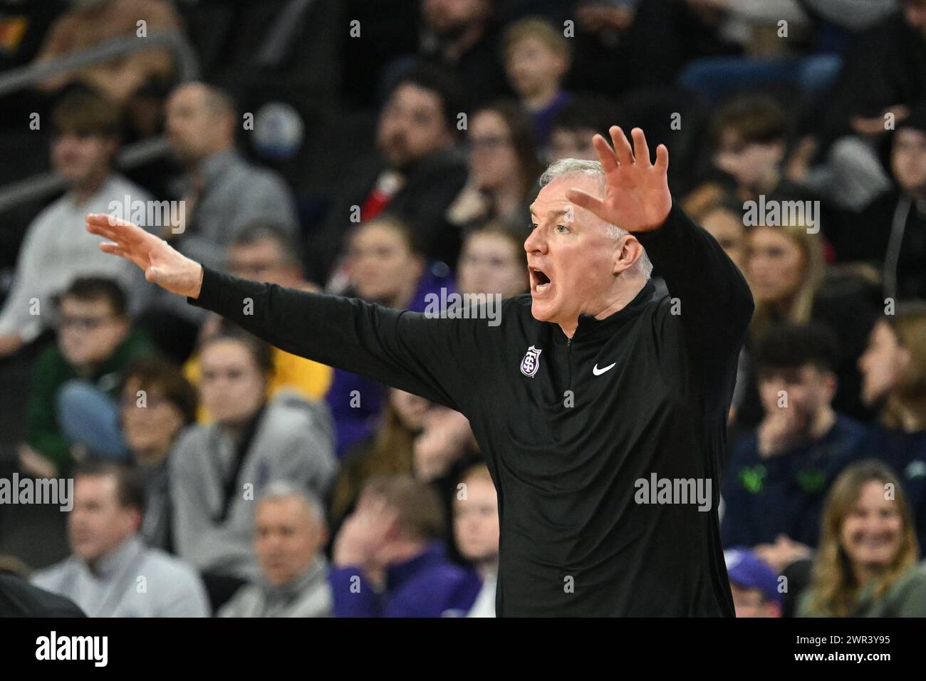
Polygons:
<instances>
[{"instance_id":1,"label":"head and neck of the fair-haired boy in purple, top row","mask_svg":"<svg viewBox=\"0 0 926 681\"><path fill-rule=\"evenodd\" d=\"M545 153L552 120L572 98L562 86L569 72L569 38L546 19L519 19L505 31L504 50L508 82L531 115L534 138Z\"/></svg>"}]
</instances>

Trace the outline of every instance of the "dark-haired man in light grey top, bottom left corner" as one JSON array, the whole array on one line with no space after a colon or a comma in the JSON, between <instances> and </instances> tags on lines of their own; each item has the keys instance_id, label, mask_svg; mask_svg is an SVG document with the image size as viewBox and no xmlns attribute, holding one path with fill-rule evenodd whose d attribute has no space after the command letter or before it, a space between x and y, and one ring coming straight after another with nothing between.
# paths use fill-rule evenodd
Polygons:
<instances>
[{"instance_id":1,"label":"dark-haired man in light grey top, bottom left corner","mask_svg":"<svg viewBox=\"0 0 926 681\"><path fill-rule=\"evenodd\" d=\"M68 516L73 555L32 575L90 617L208 617L199 577L138 536L144 492L126 469L87 464L75 475Z\"/></svg>"}]
</instances>

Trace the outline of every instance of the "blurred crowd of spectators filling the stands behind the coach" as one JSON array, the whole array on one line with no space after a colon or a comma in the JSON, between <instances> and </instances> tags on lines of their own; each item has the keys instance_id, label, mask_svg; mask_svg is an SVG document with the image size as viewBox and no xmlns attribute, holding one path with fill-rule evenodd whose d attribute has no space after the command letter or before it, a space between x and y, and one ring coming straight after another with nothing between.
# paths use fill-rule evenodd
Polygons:
<instances>
[{"instance_id":1,"label":"blurred crowd of spectators filling the stands behind the coach","mask_svg":"<svg viewBox=\"0 0 926 681\"><path fill-rule=\"evenodd\" d=\"M0 83L120 37L0 84L0 473L74 480L0 505L0 570L92 616L494 616L465 416L156 290L84 216L393 308L517 296L538 176L617 124L756 301L738 616L926 615L926 0L0 0Z\"/></svg>"}]
</instances>

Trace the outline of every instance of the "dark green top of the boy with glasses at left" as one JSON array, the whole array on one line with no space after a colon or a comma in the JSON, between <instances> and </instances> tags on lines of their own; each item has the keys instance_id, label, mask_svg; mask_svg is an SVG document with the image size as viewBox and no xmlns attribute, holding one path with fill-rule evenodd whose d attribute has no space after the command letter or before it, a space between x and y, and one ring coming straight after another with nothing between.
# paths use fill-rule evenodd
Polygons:
<instances>
[{"instance_id":1,"label":"dark green top of the boy with glasses at left","mask_svg":"<svg viewBox=\"0 0 926 681\"><path fill-rule=\"evenodd\" d=\"M117 397L122 372L132 361L155 354L155 347L140 331L131 331L87 380ZM61 432L56 416L56 393L61 385L81 378L77 370L61 353L56 343L42 351L32 367L31 391L26 408L26 442L57 466L58 473L66 473L73 459L70 441Z\"/></svg>"}]
</instances>

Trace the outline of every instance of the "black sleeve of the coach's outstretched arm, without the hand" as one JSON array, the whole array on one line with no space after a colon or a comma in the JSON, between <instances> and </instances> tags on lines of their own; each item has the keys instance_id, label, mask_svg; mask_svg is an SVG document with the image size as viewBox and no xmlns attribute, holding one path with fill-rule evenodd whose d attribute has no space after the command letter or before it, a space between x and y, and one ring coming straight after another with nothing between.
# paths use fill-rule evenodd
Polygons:
<instances>
[{"instance_id":1,"label":"black sleeve of the coach's outstretched arm, without the hand","mask_svg":"<svg viewBox=\"0 0 926 681\"><path fill-rule=\"evenodd\" d=\"M466 413L482 334L480 320L424 314L354 298L257 284L205 268L198 298L271 345Z\"/></svg>"}]
</instances>

